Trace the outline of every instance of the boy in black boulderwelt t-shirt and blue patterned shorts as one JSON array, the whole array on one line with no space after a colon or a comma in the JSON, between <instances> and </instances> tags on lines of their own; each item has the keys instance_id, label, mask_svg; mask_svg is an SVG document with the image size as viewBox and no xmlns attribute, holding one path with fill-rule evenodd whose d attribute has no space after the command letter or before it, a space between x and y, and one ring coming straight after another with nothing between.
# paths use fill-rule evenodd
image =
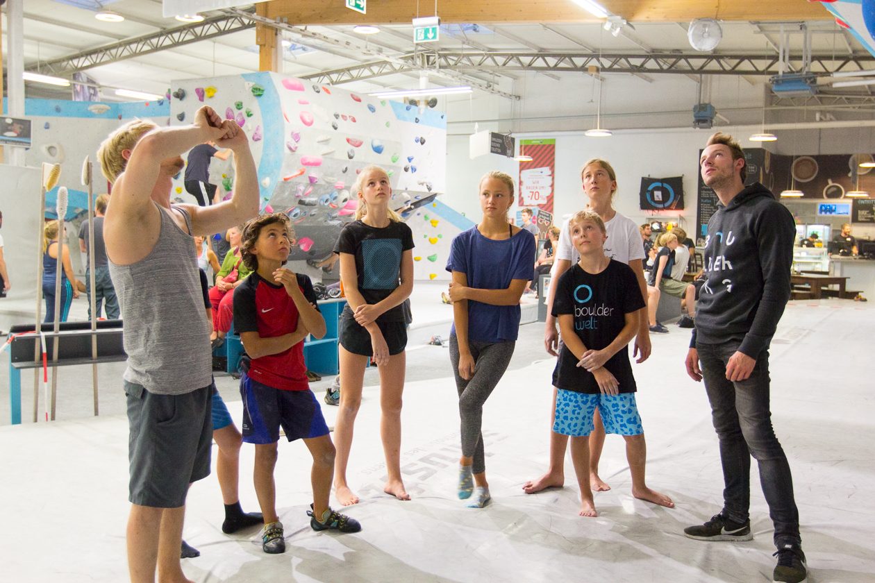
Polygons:
<instances>
[{"instance_id":1,"label":"boy in black boulderwelt t-shirt and blue patterned shorts","mask_svg":"<svg viewBox=\"0 0 875 583\"><path fill-rule=\"evenodd\" d=\"M605 223L595 212L577 212L568 228L580 260L559 278L553 316L559 321L556 421L553 431L570 435L571 460L580 486L580 516L595 517L590 488L589 434L598 406L605 431L626 440L632 495L655 504L675 503L644 481L647 446L635 405L635 378L627 344L638 330L636 312L644 308L631 267L605 256Z\"/></svg>"}]
</instances>

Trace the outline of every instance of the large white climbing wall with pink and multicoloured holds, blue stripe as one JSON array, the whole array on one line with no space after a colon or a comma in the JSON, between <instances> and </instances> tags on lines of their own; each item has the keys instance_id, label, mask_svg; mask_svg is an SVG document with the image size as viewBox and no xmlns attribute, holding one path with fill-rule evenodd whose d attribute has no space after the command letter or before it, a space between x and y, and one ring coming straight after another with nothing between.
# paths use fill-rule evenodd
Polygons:
<instances>
[{"instance_id":1,"label":"large white climbing wall with pink and multicoloured holds, blue stripe","mask_svg":"<svg viewBox=\"0 0 875 583\"><path fill-rule=\"evenodd\" d=\"M387 170L396 208L444 191L446 121L432 109L276 73L180 81L172 97L175 124L190 123L209 105L247 132L262 212L288 212L293 220L297 247L290 260L320 260L332 252L355 212L355 177L368 164ZM233 191L233 166L219 166L215 184ZM179 198L187 196L182 180L174 184Z\"/></svg>"}]
</instances>

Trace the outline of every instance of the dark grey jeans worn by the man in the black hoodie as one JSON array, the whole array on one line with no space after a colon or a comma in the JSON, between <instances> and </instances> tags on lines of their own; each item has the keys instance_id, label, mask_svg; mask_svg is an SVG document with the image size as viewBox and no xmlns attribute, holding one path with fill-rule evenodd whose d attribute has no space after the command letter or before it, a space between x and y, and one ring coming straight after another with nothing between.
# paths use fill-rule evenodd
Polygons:
<instances>
[{"instance_id":1,"label":"dark grey jeans worn by the man in the black hoodie","mask_svg":"<svg viewBox=\"0 0 875 583\"><path fill-rule=\"evenodd\" d=\"M764 350L743 381L726 379L726 364L740 340L697 344L711 416L720 441L723 464L723 514L732 522L748 519L751 497L751 455L760 466L760 485L774 523L774 544L800 545L799 511L787 456L774 435L769 411L768 350Z\"/></svg>"}]
</instances>

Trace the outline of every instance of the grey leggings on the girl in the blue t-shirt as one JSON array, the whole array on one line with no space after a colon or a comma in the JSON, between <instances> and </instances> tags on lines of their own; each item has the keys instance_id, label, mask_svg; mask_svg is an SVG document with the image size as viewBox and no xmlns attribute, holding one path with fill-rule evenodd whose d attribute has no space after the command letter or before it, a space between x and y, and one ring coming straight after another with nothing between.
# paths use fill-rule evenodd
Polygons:
<instances>
[{"instance_id":1,"label":"grey leggings on the girl in the blue t-shirt","mask_svg":"<svg viewBox=\"0 0 875 583\"><path fill-rule=\"evenodd\" d=\"M462 455L473 457L472 472L482 474L486 471L486 456L483 453L483 404L492 394L501 375L514 356L515 342L468 342L471 356L474 357L474 374L471 380L458 375L458 339L450 336L450 362L452 374L456 377L458 390L458 414L462 419Z\"/></svg>"}]
</instances>

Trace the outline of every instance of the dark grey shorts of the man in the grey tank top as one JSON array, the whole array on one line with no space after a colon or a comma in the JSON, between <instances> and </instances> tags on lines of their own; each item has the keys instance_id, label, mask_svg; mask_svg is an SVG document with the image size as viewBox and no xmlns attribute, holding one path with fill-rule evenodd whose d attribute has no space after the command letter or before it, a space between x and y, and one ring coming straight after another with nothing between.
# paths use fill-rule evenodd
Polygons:
<instances>
[{"instance_id":1,"label":"dark grey shorts of the man in the grey tank top","mask_svg":"<svg viewBox=\"0 0 875 583\"><path fill-rule=\"evenodd\" d=\"M124 381L128 397L131 503L179 508L188 484L210 475L213 386L157 395Z\"/></svg>"}]
</instances>

